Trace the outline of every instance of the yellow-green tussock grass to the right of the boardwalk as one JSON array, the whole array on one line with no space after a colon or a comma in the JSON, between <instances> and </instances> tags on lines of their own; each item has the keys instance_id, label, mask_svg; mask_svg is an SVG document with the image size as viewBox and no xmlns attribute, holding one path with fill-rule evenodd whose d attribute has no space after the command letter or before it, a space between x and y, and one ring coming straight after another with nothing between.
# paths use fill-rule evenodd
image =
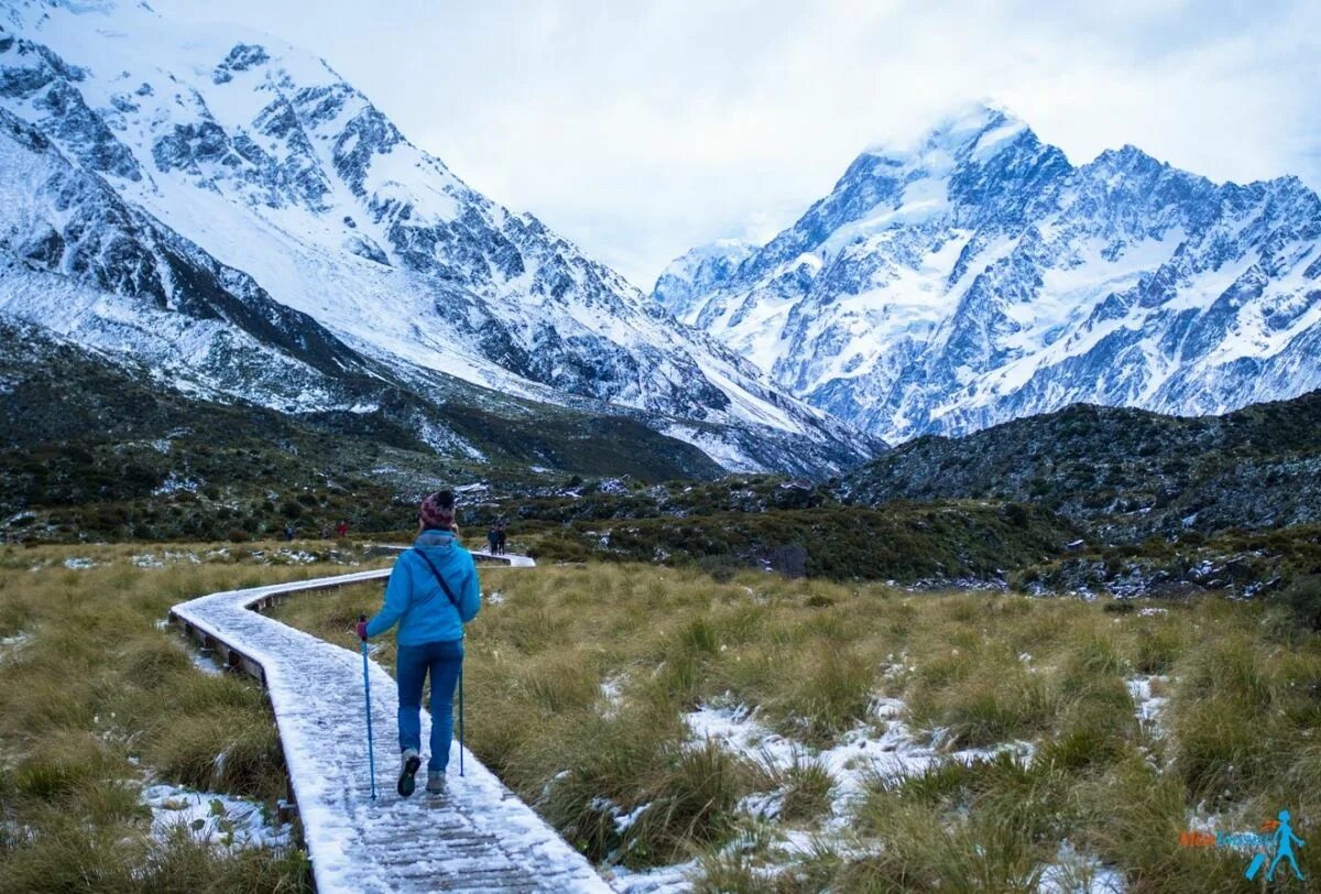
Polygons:
<instances>
[{"instance_id":1,"label":"yellow-green tussock grass to the right of the boardwalk","mask_svg":"<svg viewBox=\"0 0 1321 894\"><path fill-rule=\"evenodd\" d=\"M469 630L469 746L598 861L696 856L704 891L1013 891L1034 890L1067 839L1131 890L1193 893L1239 890L1243 869L1180 848L1199 804L1244 829L1289 806L1299 833L1318 836L1321 642L1273 635L1268 607L1202 600L1143 614L1144 602L617 564L482 578L502 602ZM277 611L353 648L349 621L379 598L355 588ZM1169 697L1157 726L1135 717L1125 683L1141 675L1168 675L1149 681ZM1033 757L938 762L831 804L836 780L811 749L880 728L882 695L943 749L1025 739ZM694 742L682 721L740 704L808 749L801 763L758 767L756 754ZM737 808L757 791L785 794L775 823ZM777 829L820 829L831 809L847 811L856 840L771 872ZM1321 872L1314 850L1300 850L1304 872Z\"/></svg>"}]
</instances>

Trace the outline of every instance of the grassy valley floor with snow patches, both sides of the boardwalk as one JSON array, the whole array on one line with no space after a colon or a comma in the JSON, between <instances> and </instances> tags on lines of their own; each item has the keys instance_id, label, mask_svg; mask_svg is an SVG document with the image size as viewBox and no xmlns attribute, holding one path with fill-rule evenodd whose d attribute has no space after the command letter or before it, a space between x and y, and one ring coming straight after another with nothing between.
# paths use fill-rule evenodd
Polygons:
<instances>
[{"instance_id":1,"label":"grassy valley floor with snow patches, both sides of the boardwalk","mask_svg":"<svg viewBox=\"0 0 1321 894\"><path fill-rule=\"evenodd\" d=\"M157 622L358 556L0 548L0 890L301 890L300 852L231 800L283 792L260 692ZM1199 833L1289 809L1316 837L1321 640L1281 609L622 564L482 576L468 745L618 890L1256 890L1251 853ZM353 648L379 598L276 613ZM388 639L375 658L392 667ZM164 807L185 821L161 835ZM1308 876L1316 852L1297 850Z\"/></svg>"}]
</instances>

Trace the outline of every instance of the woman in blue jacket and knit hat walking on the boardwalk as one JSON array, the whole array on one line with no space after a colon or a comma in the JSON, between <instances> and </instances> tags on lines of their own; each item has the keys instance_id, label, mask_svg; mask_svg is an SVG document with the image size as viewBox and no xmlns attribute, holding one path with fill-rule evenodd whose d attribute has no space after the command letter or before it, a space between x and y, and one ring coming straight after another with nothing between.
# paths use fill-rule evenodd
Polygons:
<instances>
[{"instance_id":1,"label":"woman in blue jacket and knit hat walking on the boardwalk","mask_svg":"<svg viewBox=\"0 0 1321 894\"><path fill-rule=\"evenodd\" d=\"M472 555L458 544L454 495L439 490L417 510L417 537L386 585L371 621L358 622L366 640L399 623L395 680L399 684L399 795L413 792L421 766L421 687L431 675L431 755L427 791L445 791L449 742L454 733L454 684L464 664L464 625L477 617L481 589Z\"/></svg>"}]
</instances>

